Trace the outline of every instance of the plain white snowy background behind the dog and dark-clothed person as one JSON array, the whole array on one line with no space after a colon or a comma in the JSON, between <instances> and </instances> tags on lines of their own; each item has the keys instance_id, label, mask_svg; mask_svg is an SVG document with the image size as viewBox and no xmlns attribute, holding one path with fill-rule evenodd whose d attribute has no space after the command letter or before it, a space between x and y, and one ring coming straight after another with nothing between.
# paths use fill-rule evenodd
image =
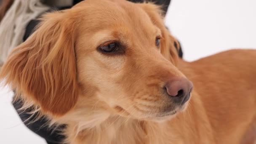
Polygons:
<instances>
[{"instance_id":1,"label":"plain white snowy background behind the dog and dark-clothed person","mask_svg":"<svg viewBox=\"0 0 256 144\"><path fill-rule=\"evenodd\" d=\"M256 0L172 0L166 25L193 61L231 48L256 49ZM0 144L45 144L29 131L0 87Z\"/></svg>"}]
</instances>

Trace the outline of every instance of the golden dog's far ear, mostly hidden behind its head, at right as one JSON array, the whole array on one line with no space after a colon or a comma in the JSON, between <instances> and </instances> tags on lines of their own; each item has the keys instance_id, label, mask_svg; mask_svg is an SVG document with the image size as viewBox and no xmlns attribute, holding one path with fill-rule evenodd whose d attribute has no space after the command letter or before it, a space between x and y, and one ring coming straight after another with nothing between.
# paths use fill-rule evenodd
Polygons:
<instances>
[{"instance_id":1,"label":"golden dog's far ear, mostly hidden behind its head, at right","mask_svg":"<svg viewBox=\"0 0 256 144\"><path fill-rule=\"evenodd\" d=\"M173 43L173 37L168 29L165 27L163 20L163 11L160 5L153 3L140 3L141 8L149 15L153 24L155 24L162 32L162 39L160 42L161 53L166 59L173 62L176 65L178 55Z\"/></svg>"}]
</instances>

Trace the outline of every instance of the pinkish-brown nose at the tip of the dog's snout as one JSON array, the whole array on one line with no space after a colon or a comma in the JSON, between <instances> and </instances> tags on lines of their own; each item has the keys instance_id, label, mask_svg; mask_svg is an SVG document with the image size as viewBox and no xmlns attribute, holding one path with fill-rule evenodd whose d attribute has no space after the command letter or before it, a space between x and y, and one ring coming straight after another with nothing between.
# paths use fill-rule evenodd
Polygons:
<instances>
[{"instance_id":1,"label":"pinkish-brown nose at the tip of the dog's snout","mask_svg":"<svg viewBox=\"0 0 256 144\"><path fill-rule=\"evenodd\" d=\"M189 100L193 84L186 78L170 80L165 85L165 90L174 103L184 104Z\"/></svg>"}]
</instances>

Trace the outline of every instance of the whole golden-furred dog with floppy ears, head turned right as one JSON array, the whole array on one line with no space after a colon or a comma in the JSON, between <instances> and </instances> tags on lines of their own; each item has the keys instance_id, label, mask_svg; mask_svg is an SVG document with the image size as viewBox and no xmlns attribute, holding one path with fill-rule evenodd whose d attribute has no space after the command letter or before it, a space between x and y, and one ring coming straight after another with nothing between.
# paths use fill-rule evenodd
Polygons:
<instances>
[{"instance_id":1,"label":"whole golden-furred dog with floppy ears, head turned right","mask_svg":"<svg viewBox=\"0 0 256 144\"><path fill-rule=\"evenodd\" d=\"M11 54L0 77L24 108L71 144L252 143L256 51L183 61L157 6L112 1L47 14Z\"/></svg>"}]
</instances>

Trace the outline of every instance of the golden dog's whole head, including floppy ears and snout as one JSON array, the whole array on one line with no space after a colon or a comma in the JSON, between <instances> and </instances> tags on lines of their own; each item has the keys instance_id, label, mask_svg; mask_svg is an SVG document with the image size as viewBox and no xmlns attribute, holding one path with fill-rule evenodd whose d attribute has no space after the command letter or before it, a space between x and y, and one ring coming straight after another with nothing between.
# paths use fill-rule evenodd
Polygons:
<instances>
[{"instance_id":1,"label":"golden dog's whole head, including floppy ears and snout","mask_svg":"<svg viewBox=\"0 0 256 144\"><path fill-rule=\"evenodd\" d=\"M1 77L45 114L161 120L183 109L192 89L176 60L158 6L85 0L45 14Z\"/></svg>"}]
</instances>

